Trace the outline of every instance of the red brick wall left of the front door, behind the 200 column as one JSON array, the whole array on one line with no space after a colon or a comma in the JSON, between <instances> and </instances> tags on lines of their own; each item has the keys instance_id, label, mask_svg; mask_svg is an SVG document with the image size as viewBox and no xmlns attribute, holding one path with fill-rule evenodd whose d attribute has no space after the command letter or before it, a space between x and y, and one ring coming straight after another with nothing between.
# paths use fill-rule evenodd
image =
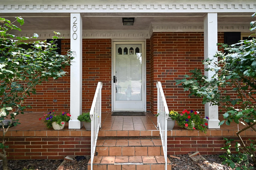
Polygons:
<instances>
[{"instance_id":1,"label":"red brick wall left of the front door, behind the 200 column","mask_svg":"<svg viewBox=\"0 0 256 170\"><path fill-rule=\"evenodd\" d=\"M61 41L62 54L70 49L70 40ZM82 111L88 112L98 81L102 87L102 112L111 110L111 39L83 39ZM70 67L65 68L70 73ZM25 104L26 112L70 111L70 74L36 86L37 94ZM53 102L57 99L57 102Z\"/></svg>"}]
</instances>

